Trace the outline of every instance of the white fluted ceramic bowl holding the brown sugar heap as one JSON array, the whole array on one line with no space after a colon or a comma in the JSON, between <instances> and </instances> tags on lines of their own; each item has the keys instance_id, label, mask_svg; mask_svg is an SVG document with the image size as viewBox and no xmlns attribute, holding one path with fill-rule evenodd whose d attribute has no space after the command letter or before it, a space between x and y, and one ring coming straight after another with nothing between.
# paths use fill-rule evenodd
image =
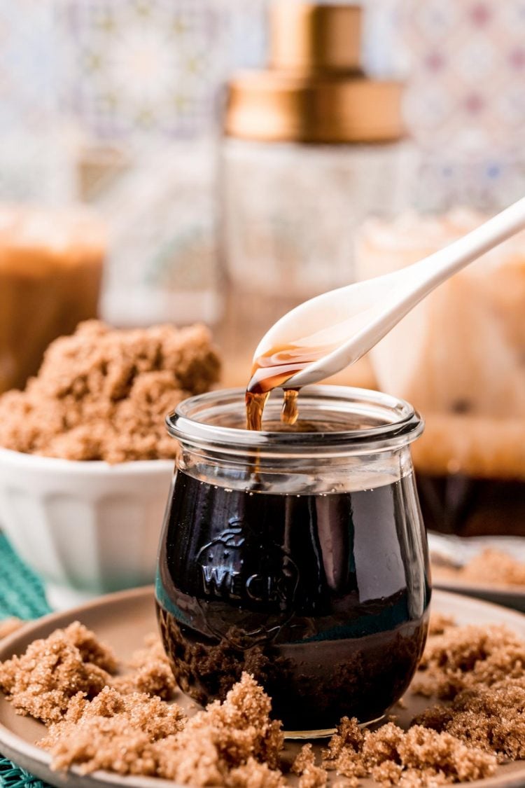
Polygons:
<instances>
[{"instance_id":1,"label":"white fluted ceramic bowl holding the brown sugar heap","mask_svg":"<svg viewBox=\"0 0 525 788\"><path fill-rule=\"evenodd\" d=\"M173 466L0 448L0 527L46 582L52 607L153 582Z\"/></svg>"}]
</instances>

